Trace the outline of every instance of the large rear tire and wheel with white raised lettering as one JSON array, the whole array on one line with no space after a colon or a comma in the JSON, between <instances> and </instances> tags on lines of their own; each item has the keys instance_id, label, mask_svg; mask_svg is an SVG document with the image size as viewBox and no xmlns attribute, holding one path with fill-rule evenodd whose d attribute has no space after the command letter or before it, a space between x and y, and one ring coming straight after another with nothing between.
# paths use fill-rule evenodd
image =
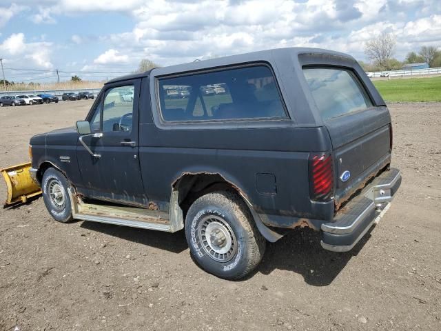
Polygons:
<instances>
[{"instance_id":1,"label":"large rear tire and wheel with white raised lettering","mask_svg":"<svg viewBox=\"0 0 441 331\"><path fill-rule=\"evenodd\" d=\"M213 192L190 206L185 237L198 265L223 279L240 279L260 263L265 239L235 192Z\"/></svg>"}]
</instances>

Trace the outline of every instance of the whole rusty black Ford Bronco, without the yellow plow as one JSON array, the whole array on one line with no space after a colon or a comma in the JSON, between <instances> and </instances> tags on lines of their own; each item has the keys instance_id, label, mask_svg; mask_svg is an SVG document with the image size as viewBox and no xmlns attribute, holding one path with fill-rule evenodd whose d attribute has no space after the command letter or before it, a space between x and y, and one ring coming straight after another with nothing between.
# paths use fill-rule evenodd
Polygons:
<instances>
[{"instance_id":1,"label":"whole rusty black Ford Bronco, without the yellow plow","mask_svg":"<svg viewBox=\"0 0 441 331\"><path fill-rule=\"evenodd\" d=\"M225 279L296 227L351 250L401 183L380 94L355 59L311 48L114 79L85 121L30 150L57 221L185 229L192 257Z\"/></svg>"}]
</instances>

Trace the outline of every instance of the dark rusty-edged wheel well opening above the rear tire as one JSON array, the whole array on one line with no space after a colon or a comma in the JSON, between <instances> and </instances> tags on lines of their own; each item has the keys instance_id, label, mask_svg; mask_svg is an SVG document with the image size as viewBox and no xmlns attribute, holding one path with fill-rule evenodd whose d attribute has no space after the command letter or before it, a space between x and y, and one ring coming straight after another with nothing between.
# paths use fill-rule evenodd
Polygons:
<instances>
[{"instance_id":1,"label":"dark rusty-edged wheel well opening above the rear tire","mask_svg":"<svg viewBox=\"0 0 441 331\"><path fill-rule=\"evenodd\" d=\"M173 184L173 189L178 191L178 204L183 211L184 220L190 205L207 193L230 190L240 196L238 188L226 181L220 174L183 174ZM243 198L240 197L240 199Z\"/></svg>"}]
</instances>

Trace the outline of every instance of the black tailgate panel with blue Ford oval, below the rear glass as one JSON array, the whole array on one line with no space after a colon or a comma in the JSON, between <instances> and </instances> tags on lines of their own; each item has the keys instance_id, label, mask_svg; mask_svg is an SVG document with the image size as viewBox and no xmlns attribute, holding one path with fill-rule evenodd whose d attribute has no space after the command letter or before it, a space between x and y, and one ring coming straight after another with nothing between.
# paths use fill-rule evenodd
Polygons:
<instances>
[{"instance_id":1,"label":"black tailgate panel with blue Ford oval, below the rear glass","mask_svg":"<svg viewBox=\"0 0 441 331\"><path fill-rule=\"evenodd\" d=\"M391 119L386 107L378 107L327 121L326 126L333 146L338 207L390 163Z\"/></svg>"}]
</instances>

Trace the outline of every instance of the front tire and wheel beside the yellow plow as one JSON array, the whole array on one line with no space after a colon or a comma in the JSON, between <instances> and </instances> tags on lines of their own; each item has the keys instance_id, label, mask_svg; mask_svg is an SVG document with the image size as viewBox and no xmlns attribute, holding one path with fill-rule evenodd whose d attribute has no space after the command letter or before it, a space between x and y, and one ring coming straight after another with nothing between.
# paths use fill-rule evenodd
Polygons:
<instances>
[{"instance_id":1,"label":"front tire and wheel beside the yellow plow","mask_svg":"<svg viewBox=\"0 0 441 331\"><path fill-rule=\"evenodd\" d=\"M58 170L49 168L41 181L43 200L50 216L55 221L67 223L72 221L72 204L68 194L68 179Z\"/></svg>"}]
</instances>

